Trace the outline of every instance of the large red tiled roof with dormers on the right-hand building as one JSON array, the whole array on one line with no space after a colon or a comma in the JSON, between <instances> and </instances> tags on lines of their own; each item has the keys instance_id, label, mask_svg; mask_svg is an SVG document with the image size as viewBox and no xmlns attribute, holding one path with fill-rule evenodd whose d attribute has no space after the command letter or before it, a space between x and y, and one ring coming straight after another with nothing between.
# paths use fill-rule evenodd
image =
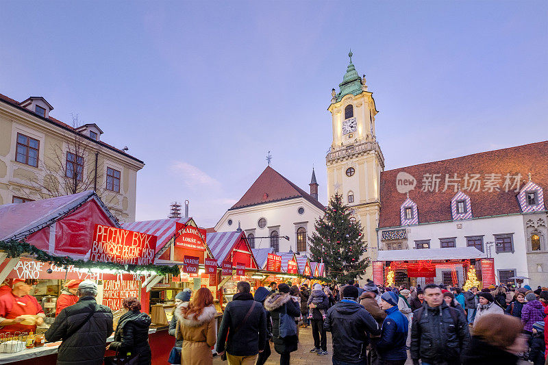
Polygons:
<instances>
[{"instance_id":1,"label":"large red tiled roof with dormers on the right-hand building","mask_svg":"<svg viewBox=\"0 0 548 365\"><path fill-rule=\"evenodd\" d=\"M474 153L449 160L428 162L414 166L397 168L381 173L380 186L380 218L379 227L397 227L400 225L400 206L406 200L406 194L397 191L396 177L403 171L416 179L414 190L409 197L416 203L419 210L419 223L451 221L451 199L456 194L453 186L445 192L445 175L449 178L457 173L462 191L471 199L474 217L495 216L499 214L520 213L521 209L516 199L518 192L503 188L506 174L521 174L520 189L528 181L531 173L532 181L543 190L548 189L548 141L525 144L523 146L498 149L482 153ZM480 191L464 189L464 175L481 174ZM438 192L422 191L424 174L440 174ZM500 191L484 191L486 174L501 174ZM513 182L513 179L512 179Z\"/></svg>"}]
</instances>

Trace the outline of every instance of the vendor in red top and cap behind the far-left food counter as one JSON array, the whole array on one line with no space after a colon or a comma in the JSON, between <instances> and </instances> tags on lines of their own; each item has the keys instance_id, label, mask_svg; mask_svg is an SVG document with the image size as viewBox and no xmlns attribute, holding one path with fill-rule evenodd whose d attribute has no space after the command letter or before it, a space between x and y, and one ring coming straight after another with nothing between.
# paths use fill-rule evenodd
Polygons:
<instances>
[{"instance_id":1,"label":"vendor in red top and cap behind the far-left food counter","mask_svg":"<svg viewBox=\"0 0 548 365\"><path fill-rule=\"evenodd\" d=\"M23 279L14 279L12 290L0 296L0 334L36 333L36 325L44 323L44 311L35 297L29 295L32 286Z\"/></svg>"}]
</instances>

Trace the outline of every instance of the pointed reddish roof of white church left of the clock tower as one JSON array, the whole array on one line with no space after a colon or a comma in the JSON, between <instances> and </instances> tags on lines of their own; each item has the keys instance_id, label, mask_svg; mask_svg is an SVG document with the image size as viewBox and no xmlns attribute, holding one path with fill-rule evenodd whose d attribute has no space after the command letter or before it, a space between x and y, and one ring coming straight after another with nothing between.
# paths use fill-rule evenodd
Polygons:
<instances>
[{"instance_id":1,"label":"pointed reddish roof of white church left of the clock tower","mask_svg":"<svg viewBox=\"0 0 548 365\"><path fill-rule=\"evenodd\" d=\"M308 192L305 192L299 188L299 186L280 175L271 168L271 166L266 166L253 185L245 192L238 203L232 205L230 210L299 197L303 197L321 210L325 209L325 207L319 201L312 198Z\"/></svg>"}]
</instances>

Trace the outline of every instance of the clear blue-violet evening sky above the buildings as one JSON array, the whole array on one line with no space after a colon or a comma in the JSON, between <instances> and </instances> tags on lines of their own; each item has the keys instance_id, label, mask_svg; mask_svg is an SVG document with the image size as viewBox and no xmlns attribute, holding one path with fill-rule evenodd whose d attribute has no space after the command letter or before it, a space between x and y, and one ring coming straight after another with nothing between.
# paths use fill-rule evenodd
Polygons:
<instances>
[{"instance_id":1,"label":"clear blue-violet evening sky above the buildings","mask_svg":"<svg viewBox=\"0 0 548 365\"><path fill-rule=\"evenodd\" d=\"M386 169L548 139L546 1L1 1L0 93L145 161L136 219L212 227L266 167L327 203L327 111L365 74Z\"/></svg>"}]
</instances>

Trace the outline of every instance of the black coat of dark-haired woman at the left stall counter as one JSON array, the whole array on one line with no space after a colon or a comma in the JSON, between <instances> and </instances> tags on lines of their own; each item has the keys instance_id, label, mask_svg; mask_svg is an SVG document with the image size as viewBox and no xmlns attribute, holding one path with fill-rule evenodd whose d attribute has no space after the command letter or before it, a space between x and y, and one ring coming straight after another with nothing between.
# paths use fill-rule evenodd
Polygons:
<instances>
[{"instance_id":1,"label":"black coat of dark-haired woman at the left stall counter","mask_svg":"<svg viewBox=\"0 0 548 365\"><path fill-rule=\"evenodd\" d=\"M129 311L118 320L114 341L109 349L125 355L139 355L138 364L147 365L152 361L149 345L149 327L151 319L148 314Z\"/></svg>"}]
</instances>

